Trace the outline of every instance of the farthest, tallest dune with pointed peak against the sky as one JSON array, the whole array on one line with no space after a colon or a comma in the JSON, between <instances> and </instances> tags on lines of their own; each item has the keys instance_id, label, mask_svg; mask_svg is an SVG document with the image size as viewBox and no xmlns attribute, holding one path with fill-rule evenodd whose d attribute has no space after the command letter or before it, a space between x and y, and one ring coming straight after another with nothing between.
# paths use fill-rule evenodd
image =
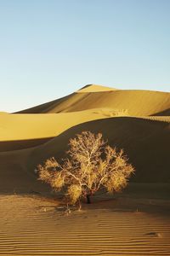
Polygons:
<instances>
[{"instance_id":1,"label":"farthest, tallest dune with pointed peak against the sky","mask_svg":"<svg viewBox=\"0 0 170 256\"><path fill-rule=\"evenodd\" d=\"M150 90L111 90L99 85L88 85L70 96L20 113L76 112L90 108L126 110L129 116L169 115L170 93Z\"/></svg>"}]
</instances>

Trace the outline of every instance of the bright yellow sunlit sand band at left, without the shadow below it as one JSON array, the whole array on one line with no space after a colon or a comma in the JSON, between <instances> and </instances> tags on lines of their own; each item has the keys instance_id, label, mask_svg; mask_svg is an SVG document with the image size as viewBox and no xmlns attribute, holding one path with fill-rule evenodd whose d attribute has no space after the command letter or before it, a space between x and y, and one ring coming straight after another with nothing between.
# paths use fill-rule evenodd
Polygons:
<instances>
[{"instance_id":1,"label":"bright yellow sunlit sand band at left, without the shadow below it","mask_svg":"<svg viewBox=\"0 0 170 256\"><path fill-rule=\"evenodd\" d=\"M73 125L104 118L109 111L0 115L0 141L55 137Z\"/></svg>"}]
</instances>

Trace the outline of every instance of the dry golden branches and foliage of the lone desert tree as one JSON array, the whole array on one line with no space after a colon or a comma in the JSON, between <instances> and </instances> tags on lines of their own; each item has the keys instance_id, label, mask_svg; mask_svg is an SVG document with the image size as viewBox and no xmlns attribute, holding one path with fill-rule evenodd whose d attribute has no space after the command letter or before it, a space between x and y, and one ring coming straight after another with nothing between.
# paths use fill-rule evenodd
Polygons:
<instances>
[{"instance_id":1,"label":"dry golden branches and foliage of the lone desert tree","mask_svg":"<svg viewBox=\"0 0 170 256\"><path fill-rule=\"evenodd\" d=\"M127 163L123 150L116 151L102 138L102 134L82 131L69 142L68 158L59 164L54 157L37 166L39 180L49 183L54 190L65 191L72 204L102 188L118 192L126 187L134 172Z\"/></svg>"}]
</instances>

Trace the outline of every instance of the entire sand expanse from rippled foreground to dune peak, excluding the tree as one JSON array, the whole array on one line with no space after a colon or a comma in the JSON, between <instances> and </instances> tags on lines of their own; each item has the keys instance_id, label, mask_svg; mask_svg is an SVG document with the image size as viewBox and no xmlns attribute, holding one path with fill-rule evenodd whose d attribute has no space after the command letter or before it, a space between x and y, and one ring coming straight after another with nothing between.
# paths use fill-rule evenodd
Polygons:
<instances>
[{"instance_id":1,"label":"entire sand expanse from rippled foreground to dune peak, excluding the tree","mask_svg":"<svg viewBox=\"0 0 170 256\"><path fill-rule=\"evenodd\" d=\"M69 139L82 131L102 132L124 148L136 169L133 193L99 195L67 214L35 169L64 158ZM53 102L0 112L0 256L169 256L169 152L167 92L88 84Z\"/></svg>"}]
</instances>

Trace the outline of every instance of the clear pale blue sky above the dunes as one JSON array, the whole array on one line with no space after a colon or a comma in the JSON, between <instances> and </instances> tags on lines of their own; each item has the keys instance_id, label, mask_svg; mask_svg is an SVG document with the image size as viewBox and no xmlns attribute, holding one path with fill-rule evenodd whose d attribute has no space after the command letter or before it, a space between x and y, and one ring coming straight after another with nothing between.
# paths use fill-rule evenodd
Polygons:
<instances>
[{"instance_id":1,"label":"clear pale blue sky above the dunes","mask_svg":"<svg viewBox=\"0 0 170 256\"><path fill-rule=\"evenodd\" d=\"M170 1L0 0L0 111L85 84L170 91Z\"/></svg>"}]
</instances>

